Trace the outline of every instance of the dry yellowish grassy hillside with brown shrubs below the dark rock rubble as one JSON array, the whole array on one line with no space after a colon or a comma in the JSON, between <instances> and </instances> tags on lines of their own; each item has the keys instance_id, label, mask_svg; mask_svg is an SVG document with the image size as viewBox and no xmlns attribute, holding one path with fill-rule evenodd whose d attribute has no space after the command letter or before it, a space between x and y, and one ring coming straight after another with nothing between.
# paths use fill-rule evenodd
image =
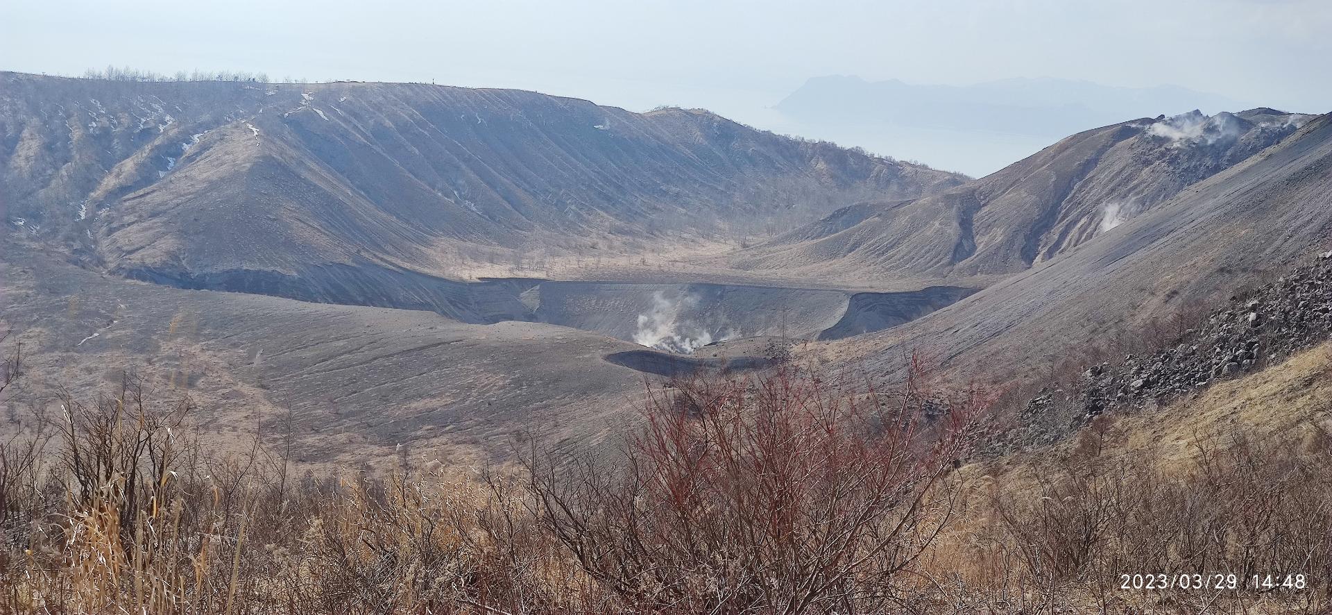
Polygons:
<instances>
[{"instance_id":1,"label":"dry yellowish grassy hillside with brown shrubs below the dark rock rubble","mask_svg":"<svg viewBox=\"0 0 1332 615\"><path fill-rule=\"evenodd\" d=\"M1325 612L1329 348L968 466L966 512L932 574L982 612ZM1148 572L1304 574L1309 588L1120 588L1120 575Z\"/></svg>"}]
</instances>

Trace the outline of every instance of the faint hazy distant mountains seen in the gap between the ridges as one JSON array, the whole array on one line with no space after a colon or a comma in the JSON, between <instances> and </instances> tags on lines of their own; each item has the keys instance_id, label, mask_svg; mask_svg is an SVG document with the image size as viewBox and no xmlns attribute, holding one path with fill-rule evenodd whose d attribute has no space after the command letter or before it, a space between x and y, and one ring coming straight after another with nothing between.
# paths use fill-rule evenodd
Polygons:
<instances>
[{"instance_id":1,"label":"faint hazy distant mountains seen in the gap between the ridges","mask_svg":"<svg viewBox=\"0 0 1332 615\"><path fill-rule=\"evenodd\" d=\"M775 109L791 132L980 176L1066 135L1128 117L1245 107L1252 104L1175 85L1122 88L1066 79L927 85L825 76L806 81Z\"/></svg>"}]
</instances>

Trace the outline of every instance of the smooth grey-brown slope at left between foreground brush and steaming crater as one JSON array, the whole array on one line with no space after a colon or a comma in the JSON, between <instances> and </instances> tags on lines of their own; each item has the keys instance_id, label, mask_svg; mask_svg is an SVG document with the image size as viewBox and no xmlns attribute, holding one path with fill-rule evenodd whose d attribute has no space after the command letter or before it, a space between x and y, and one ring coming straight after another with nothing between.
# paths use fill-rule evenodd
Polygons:
<instances>
[{"instance_id":1,"label":"smooth grey-brown slope at left between foreground brush and steaming crater","mask_svg":"<svg viewBox=\"0 0 1332 615\"><path fill-rule=\"evenodd\" d=\"M642 347L537 323L169 288L97 275L0 239L0 332L25 382L0 400L0 438L53 395L88 399L135 371L153 399L188 394L200 428L248 446L290 411L296 462L344 467L448 450L502 455L519 431L593 446L642 392L603 360ZM683 359L682 359L683 360ZM462 460L460 460L461 463Z\"/></svg>"}]
</instances>

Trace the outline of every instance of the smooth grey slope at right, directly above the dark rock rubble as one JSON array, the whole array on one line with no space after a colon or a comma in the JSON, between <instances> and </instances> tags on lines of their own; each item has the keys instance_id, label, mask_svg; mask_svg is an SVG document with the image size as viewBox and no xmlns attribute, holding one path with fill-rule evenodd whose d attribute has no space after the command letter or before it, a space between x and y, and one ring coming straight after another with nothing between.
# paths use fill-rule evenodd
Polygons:
<instances>
[{"instance_id":1,"label":"smooth grey slope at right, directly above the dark rock rubble","mask_svg":"<svg viewBox=\"0 0 1332 615\"><path fill-rule=\"evenodd\" d=\"M1332 115L1324 115L1060 259L826 351L891 370L903 351L932 348L959 374L1032 375L1151 318L1223 301L1329 247Z\"/></svg>"}]
</instances>

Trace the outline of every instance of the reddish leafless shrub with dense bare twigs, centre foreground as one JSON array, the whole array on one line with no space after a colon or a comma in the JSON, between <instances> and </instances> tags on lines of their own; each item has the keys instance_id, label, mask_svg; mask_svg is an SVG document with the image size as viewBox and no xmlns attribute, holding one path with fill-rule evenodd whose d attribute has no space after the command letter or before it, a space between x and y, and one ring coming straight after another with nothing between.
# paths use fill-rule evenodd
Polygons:
<instances>
[{"instance_id":1,"label":"reddish leafless shrub with dense bare twigs, centre foreground","mask_svg":"<svg viewBox=\"0 0 1332 615\"><path fill-rule=\"evenodd\" d=\"M983 404L926 390L915 367L896 395L794 368L677 380L625 471L530 455L531 514L630 610L896 608Z\"/></svg>"}]
</instances>

